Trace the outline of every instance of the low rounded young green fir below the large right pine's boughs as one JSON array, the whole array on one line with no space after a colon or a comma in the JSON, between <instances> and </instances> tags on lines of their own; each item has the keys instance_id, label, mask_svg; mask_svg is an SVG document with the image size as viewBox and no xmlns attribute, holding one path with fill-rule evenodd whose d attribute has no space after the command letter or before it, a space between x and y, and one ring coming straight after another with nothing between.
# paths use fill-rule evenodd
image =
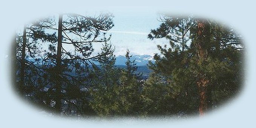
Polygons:
<instances>
[{"instance_id":1,"label":"low rounded young green fir below the large right pine's boughs","mask_svg":"<svg viewBox=\"0 0 256 128\"><path fill-rule=\"evenodd\" d=\"M171 114L173 109L172 97L169 95L169 86L163 78L155 74L150 74L143 86L143 114L145 116L164 116Z\"/></svg>"}]
</instances>

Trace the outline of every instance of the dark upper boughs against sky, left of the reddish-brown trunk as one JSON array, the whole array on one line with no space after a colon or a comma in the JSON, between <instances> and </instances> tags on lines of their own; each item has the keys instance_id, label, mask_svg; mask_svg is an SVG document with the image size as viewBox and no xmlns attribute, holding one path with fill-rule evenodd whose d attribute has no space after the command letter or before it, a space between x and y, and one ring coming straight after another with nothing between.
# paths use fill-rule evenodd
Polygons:
<instances>
[{"instance_id":1,"label":"dark upper boughs against sky, left of the reddish-brown trunk","mask_svg":"<svg viewBox=\"0 0 256 128\"><path fill-rule=\"evenodd\" d=\"M191 40L189 36L190 29L194 25L193 17L170 17L168 15L161 15L159 21L162 22L162 24L159 28L151 30L148 38L166 38L169 40L171 48L178 48L178 50L185 51Z\"/></svg>"}]
</instances>

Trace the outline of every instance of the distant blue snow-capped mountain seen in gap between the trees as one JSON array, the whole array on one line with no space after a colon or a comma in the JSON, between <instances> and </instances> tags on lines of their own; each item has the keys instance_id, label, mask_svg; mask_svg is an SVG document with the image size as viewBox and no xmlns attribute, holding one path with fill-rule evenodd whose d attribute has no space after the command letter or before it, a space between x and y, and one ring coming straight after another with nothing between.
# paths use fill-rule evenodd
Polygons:
<instances>
[{"instance_id":1,"label":"distant blue snow-capped mountain seen in gap between the trees","mask_svg":"<svg viewBox=\"0 0 256 128\"><path fill-rule=\"evenodd\" d=\"M151 55L133 55L131 60L135 60L137 66L147 65L149 61L154 61L153 56ZM116 56L116 65L125 65L126 57L125 56Z\"/></svg>"}]
</instances>

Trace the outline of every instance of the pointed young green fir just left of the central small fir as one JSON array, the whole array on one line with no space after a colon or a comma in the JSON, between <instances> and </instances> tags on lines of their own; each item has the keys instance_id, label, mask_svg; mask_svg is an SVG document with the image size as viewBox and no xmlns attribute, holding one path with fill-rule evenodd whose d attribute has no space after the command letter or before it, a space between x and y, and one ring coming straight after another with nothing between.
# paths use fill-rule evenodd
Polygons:
<instances>
[{"instance_id":1,"label":"pointed young green fir just left of the central small fir","mask_svg":"<svg viewBox=\"0 0 256 128\"><path fill-rule=\"evenodd\" d=\"M100 67L94 65L94 70L90 74L92 76L89 89L92 96L90 106L99 116L113 116L120 112L118 102L120 70L115 68L114 50L106 54L111 47L111 44L104 44L100 53L104 55L99 59Z\"/></svg>"}]
</instances>

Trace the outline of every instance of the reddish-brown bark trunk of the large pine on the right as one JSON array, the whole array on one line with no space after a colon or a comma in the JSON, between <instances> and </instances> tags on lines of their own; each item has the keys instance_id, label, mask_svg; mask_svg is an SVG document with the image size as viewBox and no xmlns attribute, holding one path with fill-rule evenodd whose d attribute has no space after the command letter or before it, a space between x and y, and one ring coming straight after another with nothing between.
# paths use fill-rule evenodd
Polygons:
<instances>
[{"instance_id":1,"label":"reddish-brown bark trunk of the large pine on the right","mask_svg":"<svg viewBox=\"0 0 256 128\"><path fill-rule=\"evenodd\" d=\"M196 48L198 54L198 65L204 67L205 60L207 58L207 43L210 41L210 24L205 20L198 20L198 38L196 41ZM209 80L206 77L204 71L199 71L199 80L197 82L200 104L199 104L199 115L204 116L207 110L207 84Z\"/></svg>"}]
</instances>

